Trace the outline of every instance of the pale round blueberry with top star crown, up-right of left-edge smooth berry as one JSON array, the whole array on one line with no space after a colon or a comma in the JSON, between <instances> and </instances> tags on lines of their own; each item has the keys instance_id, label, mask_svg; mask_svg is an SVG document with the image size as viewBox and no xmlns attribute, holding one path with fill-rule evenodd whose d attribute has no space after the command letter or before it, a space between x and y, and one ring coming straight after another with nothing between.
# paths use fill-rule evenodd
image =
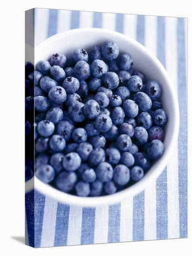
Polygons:
<instances>
[{"instance_id":1,"label":"pale round blueberry with top star crown, up-right of left-edge smooth berry","mask_svg":"<svg viewBox=\"0 0 192 256\"><path fill-rule=\"evenodd\" d=\"M56 104L61 104L66 101L66 91L61 86L55 86L49 91L49 99Z\"/></svg>"}]
</instances>

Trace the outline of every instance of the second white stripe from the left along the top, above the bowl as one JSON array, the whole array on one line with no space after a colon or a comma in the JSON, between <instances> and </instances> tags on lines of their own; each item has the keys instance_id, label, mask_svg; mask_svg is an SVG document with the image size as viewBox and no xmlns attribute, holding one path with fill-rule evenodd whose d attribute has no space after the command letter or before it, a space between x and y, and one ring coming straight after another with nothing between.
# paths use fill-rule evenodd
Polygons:
<instances>
[{"instance_id":1,"label":"second white stripe from the left along the top, above the bowl","mask_svg":"<svg viewBox=\"0 0 192 256\"><path fill-rule=\"evenodd\" d=\"M71 28L71 11L59 10L57 33L69 30Z\"/></svg>"}]
</instances>

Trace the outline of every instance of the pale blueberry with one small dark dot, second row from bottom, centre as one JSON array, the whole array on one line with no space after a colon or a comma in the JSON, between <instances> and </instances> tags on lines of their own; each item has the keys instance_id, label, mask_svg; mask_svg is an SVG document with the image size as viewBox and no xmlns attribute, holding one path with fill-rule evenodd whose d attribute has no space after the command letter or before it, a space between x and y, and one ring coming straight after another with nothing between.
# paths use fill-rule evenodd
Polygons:
<instances>
[{"instance_id":1,"label":"pale blueberry with one small dark dot, second row from bottom, centre","mask_svg":"<svg viewBox=\"0 0 192 256\"><path fill-rule=\"evenodd\" d=\"M96 174L100 182L109 182L113 178L113 167L108 162L99 163Z\"/></svg>"}]
</instances>

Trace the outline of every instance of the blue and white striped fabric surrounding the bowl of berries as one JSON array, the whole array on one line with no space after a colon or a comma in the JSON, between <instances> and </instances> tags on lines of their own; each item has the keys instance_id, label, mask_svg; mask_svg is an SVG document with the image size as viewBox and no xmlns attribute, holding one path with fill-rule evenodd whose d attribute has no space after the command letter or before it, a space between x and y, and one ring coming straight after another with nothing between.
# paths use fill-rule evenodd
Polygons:
<instances>
[{"instance_id":1,"label":"blue and white striped fabric surrounding the bowl of berries","mask_svg":"<svg viewBox=\"0 0 192 256\"><path fill-rule=\"evenodd\" d=\"M31 246L187 237L186 22L184 18L35 9L35 45L78 27L116 30L145 45L166 67L178 92L180 129L164 172L145 191L117 205L82 208L61 204L38 191L27 193L26 242ZM33 201L34 209L27 203Z\"/></svg>"}]
</instances>

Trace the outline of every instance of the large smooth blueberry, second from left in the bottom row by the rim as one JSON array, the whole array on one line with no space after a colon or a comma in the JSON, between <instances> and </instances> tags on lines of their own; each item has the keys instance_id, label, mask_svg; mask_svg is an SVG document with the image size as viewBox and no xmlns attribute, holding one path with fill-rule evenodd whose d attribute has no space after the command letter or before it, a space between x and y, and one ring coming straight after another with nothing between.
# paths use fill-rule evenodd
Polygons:
<instances>
[{"instance_id":1,"label":"large smooth blueberry, second from left in the bottom row by the rim","mask_svg":"<svg viewBox=\"0 0 192 256\"><path fill-rule=\"evenodd\" d=\"M77 175L74 172L61 172L56 179L57 189L63 192L70 192L77 182Z\"/></svg>"}]
</instances>

